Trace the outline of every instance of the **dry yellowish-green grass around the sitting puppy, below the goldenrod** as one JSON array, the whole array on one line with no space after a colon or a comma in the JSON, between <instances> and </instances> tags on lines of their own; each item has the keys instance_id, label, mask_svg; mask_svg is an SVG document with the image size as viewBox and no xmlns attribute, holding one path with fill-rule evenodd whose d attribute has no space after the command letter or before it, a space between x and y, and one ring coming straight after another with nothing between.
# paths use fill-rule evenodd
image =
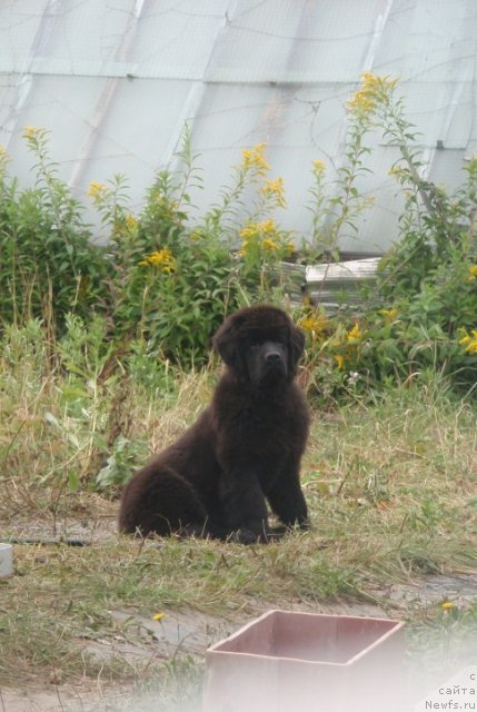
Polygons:
<instances>
[{"instance_id":1,"label":"dry yellowish-green grass around the sitting puppy, below the goldenrod","mask_svg":"<svg viewBox=\"0 0 477 712\"><path fill-rule=\"evenodd\" d=\"M471 602L445 617L439 602L423 607L388 595L423 575L477 567L476 409L441 385L314 413L302 466L311 533L250 547L140 543L116 535L119 486L98 495L97 473L119 434L131 449L126 465L119 456L112 463L118 477L170 442L207 403L215 368L180 374L141 364L149 382L153 368L152 387L126 373L101 383L95 365L85 366L83 348L66 366L34 324L12 329L2 346L1 533L82 532L91 545L16 545L16 575L0 580L0 686L120 681L159 686L166 706L178 696L187 702L200 686L202 657L156 657L150 634L118 621L118 610L245 621L264 607L376 603L410 622L417 647L423 630L435 635L477 621ZM131 660L119 643L138 635L150 654ZM99 660L90 653L95 641L116 642L119 652Z\"/></svg>"}]
</instances>

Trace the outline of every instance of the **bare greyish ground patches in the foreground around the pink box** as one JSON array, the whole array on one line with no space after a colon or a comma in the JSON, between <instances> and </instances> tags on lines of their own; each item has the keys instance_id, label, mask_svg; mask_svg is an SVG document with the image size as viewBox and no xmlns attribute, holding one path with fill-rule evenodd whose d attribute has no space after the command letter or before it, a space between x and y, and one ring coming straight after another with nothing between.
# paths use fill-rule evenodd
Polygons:
<instances>
[{"instance_id":1,"label":"bare greyish ground patches in the foreground around the pink box","mask_svg":"<svg viewBox=\"0 0 477 712\"><path fill-rule=\"evenodd\" d=\"M405 604L425 606L443 599L458 603L463 600L477 597L477 574L460 574L455 576L434 575L423 578L413 585L394 585L386 592L379 592L396 605ZM256 615L268 610L269 606L257 606ZM294 606L292 610L309 610L305 606ZM318 612L314 609L315 612ZM344 615L380 616L386 613L374 604L330 605L319 612L340 613ZM255 617L254 615L252 617ZM226 637L250 620L223 620L190 612L166 612L160 622L132 614L131 611L118 610L113 616L121 623L129 622L129 630L136 631L128 635L128 641L95 641L88 646L88 652L99 659L120 654L126 659L170 659L178 651L202 656L206 649L215 642ZM476 645L477 649L477 645ZM477 664L477 660L476 660ZM117 686L105 690L100 685L78 686L50 684L43 689L0 690L0 712L158 712L160 708L155 693L143 695L135 693L130 688ZM199 702L197 703L199 710ZM189 710L187 711L189 712Z\"/></svg>"}]
</instances>

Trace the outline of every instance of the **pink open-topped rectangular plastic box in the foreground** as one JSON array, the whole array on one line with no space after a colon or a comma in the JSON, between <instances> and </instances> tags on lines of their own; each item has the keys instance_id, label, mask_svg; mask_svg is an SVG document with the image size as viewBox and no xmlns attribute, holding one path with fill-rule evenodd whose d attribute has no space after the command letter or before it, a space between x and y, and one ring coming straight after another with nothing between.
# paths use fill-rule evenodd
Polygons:
<instances>
[{"instance_id":1,"label":"pink open-topped rectangular plastic box in the foreground","mask_svg":"<svg viewBox=\"0 0 477 712\"><path fill-rule=\"evenodd\" d=\"M269 611L207 651L203 712L401 711L404 623Z\"/></svg>"}]
</instances>

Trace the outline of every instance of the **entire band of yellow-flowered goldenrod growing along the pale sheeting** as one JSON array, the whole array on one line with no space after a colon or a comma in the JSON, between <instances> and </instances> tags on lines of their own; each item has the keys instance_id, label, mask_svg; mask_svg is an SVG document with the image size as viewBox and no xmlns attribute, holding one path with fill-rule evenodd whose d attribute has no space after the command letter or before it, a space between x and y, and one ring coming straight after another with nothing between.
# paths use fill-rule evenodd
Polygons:
<instances>
[{"instance_id":1,"label":"entire band of yellow-flowered goldenrod growing along the pale sheeting","mask_svg":"<svg viewBox=\"0 0 477 712\"><path fill-rule=\"evenodd\" d=\"M177 168L158 171L139 211L130 208L125 176L92 181L86 199L101 218L105 247L98 247L81 201L58 178L48 131L26 127L33 188L19 188L0 151L2 325L37 318L51 340L61 337L69 313L87 318L93 312L117 345L108 373L147 353L160 363L203 364L227 314L252 301L287 301L285 261L330 266L339 258L340 239L358 230L372 206L359 185L372 170L370 138L377 134L398 154L389 174L404 197L400 234L358 306L326 314L325 274L315 304L305 297L296 309L308 335L306 383L324 399L361 398L370 389L439 374L451 387L471 392L477 157L466 162L453 194L434 185L395 78L366 72L345 110L342 162L334 170L320 158L311 162L310 235L298 255L299 236L280 226L286 186L272 174L265 142L241 149L229 184L201 217L192 196L202 176L188 126Z\"/></svg>"}]
</instances>

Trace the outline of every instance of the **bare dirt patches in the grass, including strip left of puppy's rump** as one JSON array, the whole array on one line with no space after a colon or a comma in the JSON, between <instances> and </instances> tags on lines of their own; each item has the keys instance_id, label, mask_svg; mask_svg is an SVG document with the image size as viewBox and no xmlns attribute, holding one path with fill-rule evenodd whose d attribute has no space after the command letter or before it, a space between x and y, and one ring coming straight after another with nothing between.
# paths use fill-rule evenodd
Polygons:
<instances>
[{"instance_id":1,"label":"bare dirt patches in the grass, including strip left of puppy's rump","mask_svg":"<svg viewBox=\"0 0 477 712\"><path fill-rule=\"evenodd\" d=\"M22 522L16 524L16 531L10 535L21 538L50 538L51 532L46 533L44 524L39 522ZM57 530L58 535L58 530ZM109 517L95 523L69 522L61 535L81 540L107 540L115 536L113 521ZM477 597L477 572L458 575L433 575L414 582L413 584L394 584L386 591L377 591L377 597L385 597L397 610L426 606L445 597L458 604L459 601ZM277 607L269 603L251 602L247 615L231 614L228 619L215 617L198 611L165 611L161 621L143 617L130 610L112 612L118 622L127 619L138 633L136 639L96 640L87 646L87 652L99 660L120 655L131 661L170 660L178 652L190 653L202 659L208 646L228 636L245 623L257 617L267 610ZM250 610L254 613L250 615ZM315 613L336 613L342 615L369 615L388 617L386 612L372 603L342 604L307 607L292 604L287 610L311 611ZM397 613L396 617L399 617ZM198 708L200 703L198 702ZM46 682L38 686L24 689L1 688L0 712L156 712L160 708L153 692L148 694L131 690L130 686L115 686L108 689L98 681L83 681L71 686Z\"/></svg>"}]
</instances>

